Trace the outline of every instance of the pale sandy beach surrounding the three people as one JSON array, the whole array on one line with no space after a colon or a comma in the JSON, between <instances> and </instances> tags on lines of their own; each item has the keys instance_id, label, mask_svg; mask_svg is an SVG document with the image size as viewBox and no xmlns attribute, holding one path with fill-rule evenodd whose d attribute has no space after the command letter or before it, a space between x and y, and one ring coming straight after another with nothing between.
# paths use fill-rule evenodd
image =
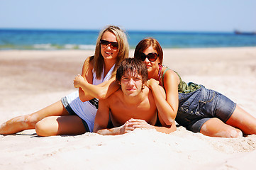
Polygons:
<instances>
[{"instance_id":1,"label":"pale sandy beach surrounding the three people","mask_svg":"<svg viewBox=\"0 0 256 170\"><path fill-rule=\"evenodd\" d=\"M0 51L0 123L38 111L72 91L91 50ZM133 50L130 50L130 57ZM256 47L164 49L164 64L186 82L225 94L256 117ZM255 169L256 135L172 134L38 137L35 130L0 135L0 169Z\"/></svg>"}]
</instances>

